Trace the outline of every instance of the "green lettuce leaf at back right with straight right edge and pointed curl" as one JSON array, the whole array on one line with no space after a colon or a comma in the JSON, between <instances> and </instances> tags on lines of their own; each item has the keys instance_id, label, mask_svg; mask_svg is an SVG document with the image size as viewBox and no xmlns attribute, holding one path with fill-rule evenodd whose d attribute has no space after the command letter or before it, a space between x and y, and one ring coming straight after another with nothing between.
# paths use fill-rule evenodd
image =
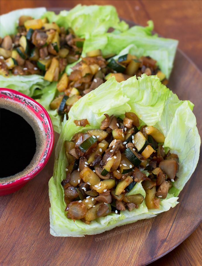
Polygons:
<instances>
[{"instance_id":1,"label":"green lettuce leaf at back right with straight right edge and pointed curl","mask_svg":"<svg viewBox=\"0 0 202 266\"><path fill-rule=\"evenodd\" d=\"M106 33L102 36L90 36L83 47L86 52L101 49L104 55L118 54L129 45L134 45L133 50L138 57L150 56L157 61L161 71L169 78L178 45L177 40L152 35L153 22L148 21L147 27L133 26L119 34Z\"/></svg>"}]
</instances>

